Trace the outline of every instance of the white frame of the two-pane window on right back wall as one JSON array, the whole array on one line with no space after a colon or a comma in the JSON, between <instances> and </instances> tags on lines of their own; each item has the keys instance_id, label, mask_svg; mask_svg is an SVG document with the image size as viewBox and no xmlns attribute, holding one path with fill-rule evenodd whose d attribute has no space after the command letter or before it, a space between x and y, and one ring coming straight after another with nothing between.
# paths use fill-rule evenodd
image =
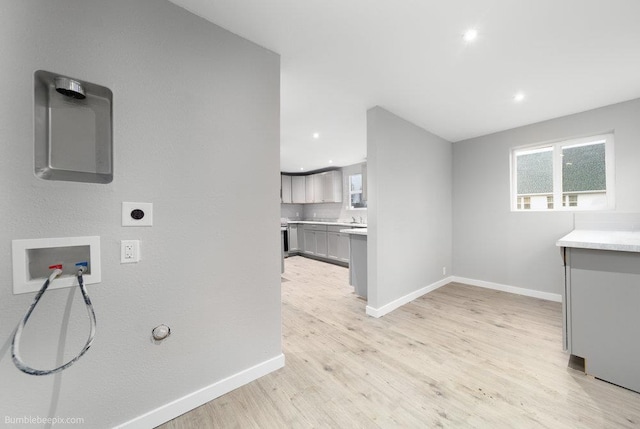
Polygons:
<instances>
[{"instance_id":1,"label":"white frame of the two-pane window on right back wall","mask_svg":"<svg viewBox=\"0 0 640 429\"><path fill-rule=\"evenodd\" d=\"M606 204L598 207L575 207L563 206L562 192L562 148L576 147L581 145L592 144L598 140L604 141L605 147L605 171L606 171ZM615 159L613 149L614 135L613 132L606 134L597 134L587 137L580 137L568 140L558 140L553 142L536 143L526 146L518 146L511 148L510 153L510 192L511 192L511 211L514 212L554 212L554 211L603 211L613 210L615 208ZM518 208L518 174L517 174L517 155L523 151L543 151L545 149L553 149L553 208L547 209L523 209ZM579 192L577 192L579 193ZM522 197L520 197L522 198ZM568 201L568 199L567 199Z\"/></svg>"}]
</instances>

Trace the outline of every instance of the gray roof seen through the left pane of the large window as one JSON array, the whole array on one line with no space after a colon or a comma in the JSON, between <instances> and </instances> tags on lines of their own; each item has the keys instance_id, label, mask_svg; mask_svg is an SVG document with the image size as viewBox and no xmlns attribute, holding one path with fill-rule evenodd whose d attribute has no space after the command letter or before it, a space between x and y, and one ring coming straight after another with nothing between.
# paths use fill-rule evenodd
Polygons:
<instances>
[{"instance_id":1,"label":"gray roof seen through the left pane of the large window","mask_svg":"<svg viewBox=\"0 0 640 429\"><path fill-rule=\"evenodd\" d=\"M553 193L553 148L516 154L518 195Z\"/></svg>"}]
</instances>

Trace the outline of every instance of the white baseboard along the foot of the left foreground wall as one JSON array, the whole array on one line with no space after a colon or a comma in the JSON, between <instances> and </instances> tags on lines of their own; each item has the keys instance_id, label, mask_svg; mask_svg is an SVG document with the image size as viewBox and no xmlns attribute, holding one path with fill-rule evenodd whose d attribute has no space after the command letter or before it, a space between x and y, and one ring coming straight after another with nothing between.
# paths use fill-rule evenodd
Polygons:
<instances>
[{"instance_id":1,"label":"white baseboard along the foot of the left foreground wall","mask_svg":"<svg viewBox=\"0 0 640 429\"><path fill-rule=\"evenodd\" d=\"M182 398L116 426L116 429L148 429L156 427L282 367L284 367L284 354L189 393Z\"/></svg>"}]
</instances>

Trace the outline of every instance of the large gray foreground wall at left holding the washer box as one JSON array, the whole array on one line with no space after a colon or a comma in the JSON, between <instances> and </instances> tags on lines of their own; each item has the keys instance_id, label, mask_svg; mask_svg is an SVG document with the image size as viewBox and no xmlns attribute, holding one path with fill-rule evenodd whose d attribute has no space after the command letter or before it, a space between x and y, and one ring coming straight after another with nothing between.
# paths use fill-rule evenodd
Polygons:
<instances>
[{"instance_id":1,"label":"large gray foreground wall at left holding the washer box","mask_svg":"<svg viewBox=\"0 0 640 429\"><path fill-rule=\"evenodd\" d=\"M109 427L279 356L279 57L158 0L5 1L0 57L0 416ZM113 91L113 183L34 176L38 69ZM152 202L154 226L121 227L122 201ZM95 343L62 374L22 374L10 337L34 294L12 294L11 240L82 235L102 238ZM142 241L139 264L119 263L121 239ZM64 340L68 359L87 327L79 293L51 291L23 356L51 366Z\"/></svg>"}]
</instances>

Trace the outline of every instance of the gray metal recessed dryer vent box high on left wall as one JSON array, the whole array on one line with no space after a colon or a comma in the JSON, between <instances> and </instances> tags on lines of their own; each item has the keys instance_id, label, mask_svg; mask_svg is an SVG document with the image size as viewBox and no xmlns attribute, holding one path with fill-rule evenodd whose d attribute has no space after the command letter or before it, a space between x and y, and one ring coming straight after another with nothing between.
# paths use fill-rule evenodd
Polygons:
<instances>
[{"instance_id":1,"label":"gray metal recessed dryer vent box high on left wall","mask_svg":"<svg viewBox=\"0 0 640 429\"><path fill-rule=\"evenodd\" d=\"M38 70L34 74L35 175L45 180L113 180L109 88Z\"/></svg>"}]
</instances>

